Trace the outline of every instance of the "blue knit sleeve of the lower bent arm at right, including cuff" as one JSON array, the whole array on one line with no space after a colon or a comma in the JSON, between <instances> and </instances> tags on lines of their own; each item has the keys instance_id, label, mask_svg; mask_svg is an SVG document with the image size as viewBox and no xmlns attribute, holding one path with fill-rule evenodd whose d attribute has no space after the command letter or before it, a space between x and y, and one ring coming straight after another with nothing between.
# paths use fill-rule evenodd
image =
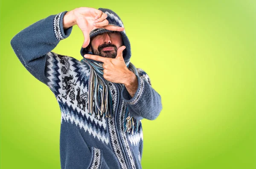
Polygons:
<instances>
[{"instance_id":1,"label":"blue knit sleeve of the lower bent arm at right, including cuff","mask_svg":"<svg viewBox=\"0 0 256 169\"><path fill-rule=\"evenodd\" d=\"M123 87L121 97L128 104L128 111L135 119L154 120L162 110L161 96L151 87L148 74L140 68L137 70L138 88L134 97L131 98L126 87Z\"/></svg>"}]
</instances>

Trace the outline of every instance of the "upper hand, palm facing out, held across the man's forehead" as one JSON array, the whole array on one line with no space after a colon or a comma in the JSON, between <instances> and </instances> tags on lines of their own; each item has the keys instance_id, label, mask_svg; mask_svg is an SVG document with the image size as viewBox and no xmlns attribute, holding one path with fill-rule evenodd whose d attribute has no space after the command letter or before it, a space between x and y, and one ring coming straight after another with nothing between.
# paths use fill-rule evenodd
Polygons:
<instances>
[{"instance_id":1,"label":"upper hand, palm facing out, held across the man's forehead","mask_svg":"<svg viewBox=\"0 0 256 169\"><path fill-rule=\"evenodd\" d=\"M107 14L99 9L80 7L68 11L63 18L63 28L67 29L73 25L78 25L84 35L83 48L90 43L90 31L96 28L105 28L111 31L123 31L125 28L108 25Z\"/></svg>"}]
</instances>

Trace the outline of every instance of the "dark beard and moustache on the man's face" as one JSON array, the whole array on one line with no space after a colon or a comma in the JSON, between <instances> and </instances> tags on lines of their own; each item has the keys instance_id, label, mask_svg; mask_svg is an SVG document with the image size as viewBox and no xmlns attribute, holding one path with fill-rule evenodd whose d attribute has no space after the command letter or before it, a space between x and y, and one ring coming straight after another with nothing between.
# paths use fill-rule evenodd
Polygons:
<instances>
[{"instance_id":1,"label":"dark beard and moustache on the man's face","mask_svg":"<svg viewBox=\"0 0 256 169\"><path fill-rule=\"evenodd\" d=\"M113 50L111 51L102 51L103 48L107 48L107 47L112 47ZM93 55L98 55L98 56L102 56L102 57L108 57L108 58L116 58L117 55L117 48L116 45L112 45L112 44L102 44L98 47L98 50L92 48L92 53Z\"/></svg>"}]
</instances>

